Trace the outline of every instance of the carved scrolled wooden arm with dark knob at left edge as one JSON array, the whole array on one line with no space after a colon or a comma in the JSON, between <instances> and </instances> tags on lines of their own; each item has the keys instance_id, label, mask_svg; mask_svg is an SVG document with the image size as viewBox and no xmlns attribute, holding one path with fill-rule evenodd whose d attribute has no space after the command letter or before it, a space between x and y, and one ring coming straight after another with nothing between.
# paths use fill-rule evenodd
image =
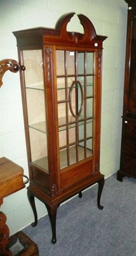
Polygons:
<instances>
[{"instance_id":1,"label":"carved scrolled wooden arm with dark knob at left edge","mask_svg":"<svg viewBox=\"0 0 136 256\"><path fill-rule=\"evenodd\" d=\"M0 88L3 84L3 76L4 73L8 70L11 72L17 73L18 70L25 70L25 67L23 65L19 65L16 60L12 59L4 59L0 61Z\"/></svg>"}]
</instances>

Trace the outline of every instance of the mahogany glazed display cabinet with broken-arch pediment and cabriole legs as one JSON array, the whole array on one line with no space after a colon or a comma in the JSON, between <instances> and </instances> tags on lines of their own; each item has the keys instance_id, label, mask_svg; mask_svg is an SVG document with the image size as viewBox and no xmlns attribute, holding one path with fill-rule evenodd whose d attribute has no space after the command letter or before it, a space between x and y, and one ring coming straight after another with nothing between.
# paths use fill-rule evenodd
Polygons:
<instances>
[{"instance_id":1,"label":"mahogany glazed display cabinet with broken-arch pediment and cabriole legs","mask_svg":"<svg viewBox=\"0 0 136 256\"><path fill-rule=\"evenodd\" d=\"M55 29L13 32L17 38L25 136L29 163L28 197L46 205L56 243L58 206L98 183L100 173L102 44L92 22L78 15L84 33L67 31L75 13L62 15Z\"/></svg>"}]
</instances>

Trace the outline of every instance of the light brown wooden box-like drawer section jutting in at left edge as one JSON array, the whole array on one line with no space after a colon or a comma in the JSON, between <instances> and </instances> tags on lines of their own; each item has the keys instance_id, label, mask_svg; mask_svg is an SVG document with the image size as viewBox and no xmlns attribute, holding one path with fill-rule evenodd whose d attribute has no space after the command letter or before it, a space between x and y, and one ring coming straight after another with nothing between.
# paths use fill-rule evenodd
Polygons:
<instances>
[{"instance_id":1,"label":"light brown wooden box-like drawer section jutting in at left edge","mask_svg":"<svg viewBox=\"0 0 136 256\"><path fill-rule=\"evenodd\" d=\"M6 157L0 158L0 198L25 188L23 174L24 170L18 164Z\"/></svg>"}]
</instances>

